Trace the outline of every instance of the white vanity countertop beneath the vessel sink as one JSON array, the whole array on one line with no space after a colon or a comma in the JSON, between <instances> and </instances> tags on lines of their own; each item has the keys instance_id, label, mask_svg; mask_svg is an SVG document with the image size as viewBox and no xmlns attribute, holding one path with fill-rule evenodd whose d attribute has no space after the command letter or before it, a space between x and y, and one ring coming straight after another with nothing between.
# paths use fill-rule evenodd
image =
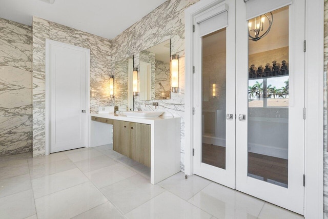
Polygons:
<instances>
[{"instance_id":1,"label":"white vanity countertop beneath the vessel sink","mask_svg":"<svg viewBox=\"0 0 328 219\"><path fill-rule=\"evenodd\" d=\"M156 122L163 121L163 120L174 120L179 117L173 116L158 116L158 117L149 117L149 118L135 118L135 117L128 117L125 115L115 115L114 113L91 113L91 116L97 116L101 118L111 118L112 120L120 120L120 121L127 121L133 123L143 123L154 125Z\"/></svg>"}]
</instances>

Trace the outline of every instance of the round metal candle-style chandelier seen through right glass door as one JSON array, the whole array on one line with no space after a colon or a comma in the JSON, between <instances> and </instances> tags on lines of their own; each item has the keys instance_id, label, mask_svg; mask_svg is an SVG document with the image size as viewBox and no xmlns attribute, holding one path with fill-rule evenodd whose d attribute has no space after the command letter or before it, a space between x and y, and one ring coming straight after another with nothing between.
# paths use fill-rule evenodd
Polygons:
<instances>
[{"instance_id":1,"label":"round metal candle-style chandelier seen through right glass door","mask_svg":"<svg viewBox=\"0 0 328 219\"><path fill-rule=\"evenodd\" d=\"M271 18L267 14L262 14L248 21L248 36L251 41L258 41L269 33L273 22L273 14L271 12L270 15ZM264 30L265 20L269 24L266 30Z\"/></svg>"}]
</instances>

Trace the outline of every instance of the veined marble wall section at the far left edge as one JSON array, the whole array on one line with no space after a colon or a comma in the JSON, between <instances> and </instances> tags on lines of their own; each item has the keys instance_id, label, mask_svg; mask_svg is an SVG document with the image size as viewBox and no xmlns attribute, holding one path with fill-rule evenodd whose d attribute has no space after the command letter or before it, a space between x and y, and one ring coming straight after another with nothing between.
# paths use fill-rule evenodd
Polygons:
<instances>
[{"instance_id":1,"label":"veined marble wall section at the far left edge","mask_svg":"<svg viewBox=\"0 0 328 219\"><path fill-rule=\"evenodd\" d=\"M0 156L32 151L32 28L0 18Z\"/></svg>"}]
</instances>

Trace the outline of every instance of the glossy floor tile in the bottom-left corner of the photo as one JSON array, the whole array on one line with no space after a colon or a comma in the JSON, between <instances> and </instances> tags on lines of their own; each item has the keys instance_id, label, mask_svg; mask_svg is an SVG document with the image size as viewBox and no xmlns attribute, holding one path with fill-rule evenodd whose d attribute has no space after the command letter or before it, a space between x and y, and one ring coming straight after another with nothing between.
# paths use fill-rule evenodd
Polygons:
<instances>
[{"instance_id":1,"label":"glossy floor tile in the bottom-left corner of the photo","mask_svg":"<svg viewBox=\"0 0 328 219\"><path fill-rule=\"evenodd\" d=\"M0 218L25 218L35 214L32 190L0 198Z\"/></svg>"}]
</instances>

